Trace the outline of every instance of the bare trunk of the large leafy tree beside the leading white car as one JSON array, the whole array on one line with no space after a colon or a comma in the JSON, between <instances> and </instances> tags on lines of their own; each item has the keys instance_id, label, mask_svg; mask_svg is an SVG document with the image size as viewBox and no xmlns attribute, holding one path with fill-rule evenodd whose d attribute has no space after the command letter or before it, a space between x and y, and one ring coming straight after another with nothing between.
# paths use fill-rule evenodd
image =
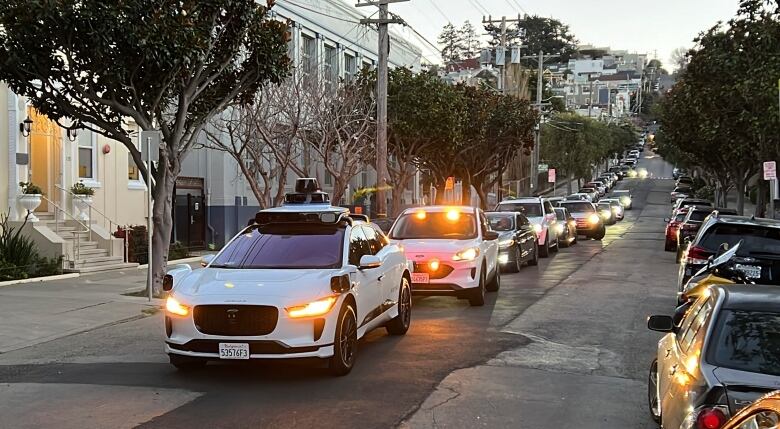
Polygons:
<instances>
[{"instance_id":1,"label":"bare trunk of the large leafy tree beside the leading white car","mask_svg":"<svg viewBox=\"0 0 780 429\"><path fill-rule=\"evenodd\" d=\"M173 231L173 187L176 184L176 176L165 166L154 186L154 205L152 206L152 257L149 261L152 266L152 289L155 296L162 295L162 280L165 276L165 268L168 265L168 248L171 244L171 232Z\"/></svg>"}]
</instances>

